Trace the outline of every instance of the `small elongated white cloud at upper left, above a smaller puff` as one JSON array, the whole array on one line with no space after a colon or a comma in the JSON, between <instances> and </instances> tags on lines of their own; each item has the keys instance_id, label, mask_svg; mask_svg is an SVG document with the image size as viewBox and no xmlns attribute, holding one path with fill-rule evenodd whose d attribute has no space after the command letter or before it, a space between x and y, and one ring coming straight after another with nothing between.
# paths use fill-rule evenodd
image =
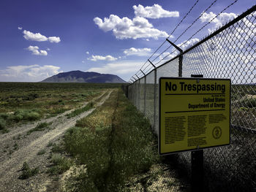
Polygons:
<instances>
[{"instance_id":1,"label":"small elongated white cloud at upper left, above a smaller puff","mask_svg":"<svg viewBox=\"0 0 256 192\"><path fill-rule=\"evenodd\" d=\"M35 41L35 42L49 41L49 42L56 42L56 43L61 41L61 39L59 37L45 37L42 34L39 34L39 33L34 34L30 31L26 31L26 30L23 31L23 34L24 34L23 37L29 41Z\"/></svg>"}]
</instances>

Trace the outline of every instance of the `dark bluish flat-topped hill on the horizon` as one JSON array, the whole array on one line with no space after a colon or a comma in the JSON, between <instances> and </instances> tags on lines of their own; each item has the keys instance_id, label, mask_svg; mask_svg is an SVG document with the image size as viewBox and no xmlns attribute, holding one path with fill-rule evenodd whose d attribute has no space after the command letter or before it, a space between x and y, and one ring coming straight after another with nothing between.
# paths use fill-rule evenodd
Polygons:
<instances>
[{"instance_id":1,"label":"dark bluish flat-topped hill on the horizon","mask_svg":"<svg viewBox=\"0 0 256 192\"><path fill-rule=\"evenodd\" d=\"M48 77L42 82L124 82L120 77L114 74L100 74L97 72L72 71L64 72Z\"/></svg>"}]
</instances>

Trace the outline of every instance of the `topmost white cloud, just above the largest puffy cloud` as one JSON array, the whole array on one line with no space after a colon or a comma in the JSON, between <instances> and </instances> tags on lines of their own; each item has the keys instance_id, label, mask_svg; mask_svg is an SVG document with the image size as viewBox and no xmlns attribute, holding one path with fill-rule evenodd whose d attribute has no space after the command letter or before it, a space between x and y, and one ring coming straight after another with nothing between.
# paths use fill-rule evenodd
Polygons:
<instances>
[{"instance_id":1,"label":"topmost white cloud, just above the largest puffy cloud","mask_svg":"<svg viewBox=\"0 0 256 192\"><path fill-rule=\"evenodd\" d=\"M139 4L138 7L134 5L132 7L135 9L135 16L142 18L178 18L179 12L174 11L170 12L165 9L162 9L162 6L159 4L154 4L152 7L143 7L143 5Z\"/></svg>"}]
</instances>

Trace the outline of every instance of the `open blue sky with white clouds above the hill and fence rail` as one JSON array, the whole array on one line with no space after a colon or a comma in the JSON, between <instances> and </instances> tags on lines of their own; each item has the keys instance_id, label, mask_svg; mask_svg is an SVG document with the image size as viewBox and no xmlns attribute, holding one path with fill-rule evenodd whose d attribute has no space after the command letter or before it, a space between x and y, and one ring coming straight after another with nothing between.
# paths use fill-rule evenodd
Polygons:
<instances>
[{"instance_id":1,"label":"open blue sky with white clouds above the hill and fence rail","mask_svg":"<svg viewBox=\"0 0 256 192\"><path fill-rule=\"evenodd\" d=\"M199 0L170 41L212 2ZM232 2L217 0L176 45ZM1 0L0 81L38 82L72 70L117 74L129 80L193 4L192 0ZM255 0L238 0L181 47L186 49L254 4Z\"/></svg>"}]
</instances>

